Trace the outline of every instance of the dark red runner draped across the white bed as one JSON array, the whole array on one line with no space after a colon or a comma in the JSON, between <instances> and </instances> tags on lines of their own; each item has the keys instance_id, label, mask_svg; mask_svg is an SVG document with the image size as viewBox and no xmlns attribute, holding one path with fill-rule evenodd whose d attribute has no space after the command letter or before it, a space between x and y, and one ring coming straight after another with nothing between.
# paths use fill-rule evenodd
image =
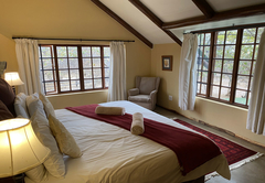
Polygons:
<instances>
[{"instance_id":1,"label":"dark red runner draped across the white bed","mask_svg":"<svg viewBox=\"0 0 265 183\"><path fill-rule=\"evenodd\" d=\"M95 114L97 106L98 105L86 105L66 107L66 109L130 130L132 121L131 115L97 115ZM181 171L183 175L222 153L213 141L194 132L146 118L144 119L144 123L145 132L141 136L171 149L177 154L179 163L182 166Z\"/></svg>"}]
</instances>

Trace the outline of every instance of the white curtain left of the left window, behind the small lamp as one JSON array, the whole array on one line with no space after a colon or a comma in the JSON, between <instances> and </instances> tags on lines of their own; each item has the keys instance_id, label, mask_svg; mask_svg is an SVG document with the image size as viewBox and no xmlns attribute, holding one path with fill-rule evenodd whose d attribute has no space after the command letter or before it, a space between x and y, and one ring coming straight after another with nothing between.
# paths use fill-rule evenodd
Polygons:
<instances>
[{"instance_id":1,"label":"white curtain left of the left window, behind the small lamp","mask_svg":"<svg viewBox=\"0 0 265 183\"><path fill-rule=\"evenodd\" d=\"M26 95L43 93L40 77L39 46L36 40L17 39L15 53L19 64L19 74L24 85L19 92Z\"/></svg>"}]
</instances>

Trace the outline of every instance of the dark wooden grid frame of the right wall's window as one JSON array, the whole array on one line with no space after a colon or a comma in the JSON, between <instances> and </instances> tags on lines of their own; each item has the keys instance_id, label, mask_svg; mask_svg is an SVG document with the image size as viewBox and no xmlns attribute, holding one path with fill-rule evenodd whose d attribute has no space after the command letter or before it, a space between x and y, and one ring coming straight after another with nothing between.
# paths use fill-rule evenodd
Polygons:
<instances>
[{"instance_id":1,"label":"dark wooden grid frame of the right wall's window","mask_svg":"<svg viewBox=\"0 0 265 183\"><path fill-rule=\"evenodd\" d=\"M259 28L264 28L263 25L250 25L247 28L231 28L231 29L220 29L220 30L210 30L210 31L202 31L200 32L199 34L204 34L203 39L205 40L205 34L206 33L210 33L211 34L211 43L210 43L210 57L209 57L209 67L208 67L208 82L206 82L206 93L205 94L201 94L201 87L202 87L202 84L204 84L202 82L202 67L203 67L203 55L202 55L202 62L201 62L201 68L197 68L197 72L200 72L201 73L201 80L198 82L198 78L197 78L197 87L198 87L198 84L200 84L200 94L198 93L198 89L197 89L197 97L202 97L202 98L206 98L206 99L210 99L210 100L215 100L215 101L220 101L220 103L224 103L224 104L227 104L227 105L232 105L232 106L237 106L237 107L242 107L242 108L248 108L248 97L250 97L250 94L251 94L251 79L253 78L253 64L254 62L256 61L255 58L255 53L256 53L256 47L257 45L259 45L259 43L257 43L257 31ZM256 29L255 31L255 37L254 37L254 42L253 43L243 43L243 32L244 32L244 29ZM215 98L215 97L211 97L211 87L214 86L212 85L212 74L215 73L214 72L214 68L213 68L213 62L214 58L213 55L214 55L214 46L216 46L218 44L215 43L218 39L216 37L216 33L218 32L221 32L221 31L225 31L225 35L226 35L226 32L227 31L237 31L237 35L236 35L236 43L235 43L235 55L234 55L234 65L233 65L233 71L232 71L232 82L231 82L231 96L230 96L230 99L229 100L224 100L224 99L221 99L220 98L220 93L219 92L219 98ZM225 46L225 37L224 37L224 43L223 43L223 46ZM242 45L254 45L254 49L253 49L253 55L252 55L252 58L250 58L248 61L251 62L251 71L250 71L250 74L248 75L243 75L243 74L239 74L239 68L240 68L240 62L241 62L241 51L242 51ZM199 46L200 46L200 43L199 43ZM205 47L205 43L203 42L203 52L202 54L204 54L204 47ZM199 50L199 49L198 49ZM223 50L223 54L224 54L224 50ZM199 60L199 56L198 56L198 60ZM224 56L222 58L222 68L223 68L223 65L224 65ZM242 58L243 61L245 58ZM219 85L219 89L221 90L221 87L222 87L222 74L224 73L223 69L221 68L221 71L219 72L221 74L221 77L220 77L220 85ZM198 74L198 73L197 73ZM225 73L224 73L225 74ZM247 89L239 89L236 88L236 84L237 84L237 77L239 76L248 76L250 79L248 79L248 85L247 85ZM244 90L246 92L246 104L243 105L243 104L239 104L239 103L235 103L235 93L236 90Z\"/></svg>"}]
</instances>

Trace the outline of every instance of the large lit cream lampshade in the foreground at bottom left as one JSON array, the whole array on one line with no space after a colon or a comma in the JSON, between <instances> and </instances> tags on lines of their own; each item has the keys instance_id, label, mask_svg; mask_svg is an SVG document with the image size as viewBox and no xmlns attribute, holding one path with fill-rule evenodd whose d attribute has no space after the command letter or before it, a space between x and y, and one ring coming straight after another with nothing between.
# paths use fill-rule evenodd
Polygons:
<instances>
[{"instance_id":1,"label":"large lit cream lampshade in the foreground at bottom left","mask_svg":"<svg viewBox=\"0 0 265 183\"><path fill-rule=\"evenodd\" d=\"M36 138L31 121L0 121L0 177L23 173L43 163L51 150Z\"/></svg>"}]
</instances>

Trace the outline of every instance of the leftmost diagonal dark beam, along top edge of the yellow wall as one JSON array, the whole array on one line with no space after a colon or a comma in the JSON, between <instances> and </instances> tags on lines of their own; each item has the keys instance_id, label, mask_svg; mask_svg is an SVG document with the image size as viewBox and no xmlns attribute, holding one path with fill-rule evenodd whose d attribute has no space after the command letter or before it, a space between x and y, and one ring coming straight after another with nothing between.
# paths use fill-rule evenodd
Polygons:
<instances>
[{"instance_id":1,"label":"leftmost diagonal dark beam, along top edge of the yellow wall","mask_svg":"<svg viewBox=\"0 0 265 183\"><path fill-rule=\"evenodd\" d=\"M107 8L105 4L103 4L99 0L91 0L91 1L94 2L98 8L100 8L108 15L110 15L114 20L116 20L119 24L121 24L125 29L127 29L129 32L131 32L135 36L137 36L139 40L141 40L150 49L153 47L152 43L149 40L147 40L139 32L137 32L132 26L130 26L127 22L125 22L120 17L118 17L116 13L114 13L109 8Z\"/></svg>"}]
</instances>

